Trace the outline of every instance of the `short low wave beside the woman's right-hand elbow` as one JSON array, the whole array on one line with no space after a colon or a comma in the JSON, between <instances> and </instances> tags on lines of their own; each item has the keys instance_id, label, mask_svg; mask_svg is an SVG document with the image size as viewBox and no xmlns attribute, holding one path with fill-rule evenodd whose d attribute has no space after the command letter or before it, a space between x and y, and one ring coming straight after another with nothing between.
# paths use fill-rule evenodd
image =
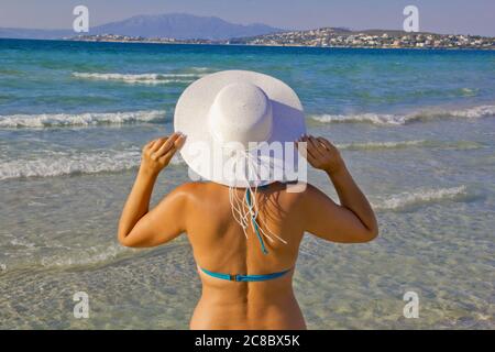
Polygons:
<instances>
[{"instance_id":1,"label":"short low wave beside the woman's right-hand elbow","mask_svg":"<svg viewBox=\"0 0 495 352\"><path fill-rule=\"evenodd\" d=\"M419 189L413 193L403 193L386 199L373 202L376 210L400 210L413 206L432 204L452 199L465 199L469 196L468 188L459 187Z\"/></svg>"}]
</instances>

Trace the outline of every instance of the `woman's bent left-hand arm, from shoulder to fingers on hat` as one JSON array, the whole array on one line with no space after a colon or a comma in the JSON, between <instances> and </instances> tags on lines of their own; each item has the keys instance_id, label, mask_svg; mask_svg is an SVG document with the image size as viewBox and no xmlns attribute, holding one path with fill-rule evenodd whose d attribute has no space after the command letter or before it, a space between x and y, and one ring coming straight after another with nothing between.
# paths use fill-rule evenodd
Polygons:
<instances>
[{"instance_id":1,"label":"woman's bent left-hand arm, from shoulder to fingers on hat","mask_svg":"<svg viewBox=\"0 0 495 352\"><path fill-rule=\"evenodd\" d=\"M119 242L125 246L153 246L169 241L180 233L178 208L184 206L184 193L170 193L158 206L148 211L150 199L160 172L168 165L185 136L174 133L169 138L151 141L143 147L142 162L119 221ZM177 221L167 221L177 216ZM174 223L173 226L169 226ZM179 226L177 226L179 224ZM166 227L164 229L164 227Z\"/></svg>"}]
</instances>

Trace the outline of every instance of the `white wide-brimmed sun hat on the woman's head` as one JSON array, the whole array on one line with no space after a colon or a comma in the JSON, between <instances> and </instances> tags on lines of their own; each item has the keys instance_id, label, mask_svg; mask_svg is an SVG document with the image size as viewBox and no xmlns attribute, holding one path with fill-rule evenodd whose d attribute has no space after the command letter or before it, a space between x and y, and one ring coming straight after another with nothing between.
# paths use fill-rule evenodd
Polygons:
<instances>
[{"instance_id":1,"label":"white wide-brimmed sun hat on the woman's head","mask_svg":"<svg viewBox=\"0 0 495 352\"><path fill-rule=\"evenodd\" d=\"M257 188L298 178L293 142L306 133L304 110L277 78L248 70L205 76L180 96L174 129L186 135L182 157L205 179Z\"/></svg>"}]
</instances>

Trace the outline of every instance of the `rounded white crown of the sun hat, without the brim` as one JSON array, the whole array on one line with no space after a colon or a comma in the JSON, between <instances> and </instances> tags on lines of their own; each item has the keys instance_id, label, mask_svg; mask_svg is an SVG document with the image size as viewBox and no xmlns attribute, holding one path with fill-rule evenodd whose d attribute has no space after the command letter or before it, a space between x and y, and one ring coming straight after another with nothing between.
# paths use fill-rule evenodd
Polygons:
<instances>
[{"instance_id":1,"label":"rounded white crown of the sun hat, without the brim","mask_svg":"<svg viewBox=\"0 0 495 352\"><path fill-rule=\"evenodd\" d=\"M260 87L234 82L216 96L209 112L209 127L219 143L266 141L272 134L272 103Z\"/></svg>"}]
</instances>

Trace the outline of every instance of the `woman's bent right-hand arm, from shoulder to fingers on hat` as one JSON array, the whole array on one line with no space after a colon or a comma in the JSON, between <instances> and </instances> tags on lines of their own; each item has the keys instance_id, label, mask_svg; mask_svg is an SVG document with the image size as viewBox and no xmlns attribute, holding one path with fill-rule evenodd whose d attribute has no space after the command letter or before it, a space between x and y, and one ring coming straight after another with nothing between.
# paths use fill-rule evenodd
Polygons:
<instances>
[{"instance_id":1,"label":"woman's bent right-hand arm, from shoulder to fingers on hat","mask_svg":"<svg viewBox=\"0 0 495 352\"><path fill-rule=\"evenodd\" d=\"M327 173L341 205L323 193L308 189L308 231L336 242L367 242L378 234L375 215L349 173L338 148L323 138L304 136L308 162Z\"/></svg>"}]
</instances>

